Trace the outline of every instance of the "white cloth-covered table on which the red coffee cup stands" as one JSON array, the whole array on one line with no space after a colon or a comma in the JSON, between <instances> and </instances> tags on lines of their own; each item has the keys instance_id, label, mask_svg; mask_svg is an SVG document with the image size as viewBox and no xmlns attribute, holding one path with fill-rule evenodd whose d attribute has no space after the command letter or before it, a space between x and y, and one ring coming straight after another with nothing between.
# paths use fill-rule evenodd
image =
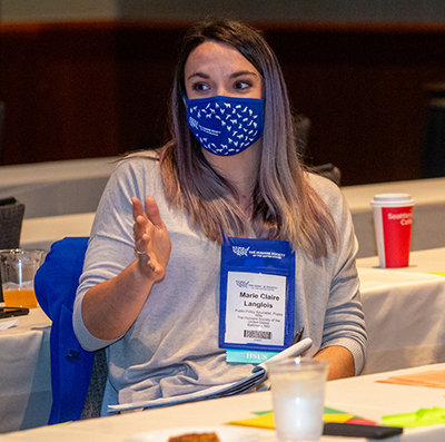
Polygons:
<instances>
[{"instance_id":1,"label":"white cloth-covered table on which the red coffee cup stands","mask_svg":"<svg viewBox=\"0 0 445 442\"><path fill-rule=\"evenodd\" d=\"M357 259L367 318L366 373L445 362L445 248L412 252L409 267Z\"/></svg>"}]
</instances>

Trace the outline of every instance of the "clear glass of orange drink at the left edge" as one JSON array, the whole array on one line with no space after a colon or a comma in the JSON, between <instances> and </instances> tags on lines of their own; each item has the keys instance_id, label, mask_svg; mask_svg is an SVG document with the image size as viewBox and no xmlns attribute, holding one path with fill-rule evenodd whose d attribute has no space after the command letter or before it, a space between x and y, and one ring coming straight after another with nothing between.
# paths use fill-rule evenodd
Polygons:
<instances>
[{"instance_id":1,"label":"clear glass of orange drink at the left edge","mask_svg":"<svg viewBox=\"0 0 445 442\"><path fill-rule=\"evenodd\" d=\"M0 272L7 307L38 306L34 275L42 262L43 251L13 248L0 251Z\"/></svg>"}]
</instances>

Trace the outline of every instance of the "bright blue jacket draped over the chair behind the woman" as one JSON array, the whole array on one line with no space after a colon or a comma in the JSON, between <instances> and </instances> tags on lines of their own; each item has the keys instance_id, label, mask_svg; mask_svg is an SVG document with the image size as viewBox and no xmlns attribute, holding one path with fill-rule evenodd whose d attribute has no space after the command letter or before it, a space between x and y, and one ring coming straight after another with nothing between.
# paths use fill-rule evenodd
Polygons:
<instances>
[{"instance_id":1,"label":"bright blue jacket draped over the chair behind the woman","mask_svg":"<svg viewBox=\"0 0 445 442\"><path fill-rule=\"evenodd\" d=\"M53 243L34 277L36 296L52 321L49 424L80 419L90 382L95 353L81 347L72 328L72 307L88 239L67 237Z\"/></svg>"}]
</instances>

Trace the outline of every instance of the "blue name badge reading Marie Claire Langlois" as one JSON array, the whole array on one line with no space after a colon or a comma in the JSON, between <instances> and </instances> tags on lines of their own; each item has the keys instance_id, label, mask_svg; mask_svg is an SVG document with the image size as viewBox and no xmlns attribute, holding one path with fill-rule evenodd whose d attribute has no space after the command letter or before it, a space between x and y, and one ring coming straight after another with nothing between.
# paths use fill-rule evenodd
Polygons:
<instances>
[{"instance_id":1,"label":"blue name badge reading Marie Claire Langlois","mask_svg":"<svg viewBox=\"0 0 445 442\"><path fill-rule=\"evenodd\" d=\"M288 242L225 237L219 346L264 352L288 347L294 292L295 253Z\"/></svg>"}]
</instances>

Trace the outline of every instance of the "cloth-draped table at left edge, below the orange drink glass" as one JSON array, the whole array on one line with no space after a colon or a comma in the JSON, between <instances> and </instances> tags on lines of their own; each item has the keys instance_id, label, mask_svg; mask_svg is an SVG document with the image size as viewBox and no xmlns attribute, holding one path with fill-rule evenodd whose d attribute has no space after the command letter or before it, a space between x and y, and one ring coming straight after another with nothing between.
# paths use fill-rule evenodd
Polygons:
<instances>
[{"instance_id":1,"label":"cloth-draped table at left edge, below the orange drink glass","mask_svg":"<svg viewBox=\"0 0 445 442\"><path fill-rule=\"evenodd\" d=\"M51 411L51 321L41 308L18 320L0 331L0 433L44 425Z\"/></svg>"}]
</instances>

